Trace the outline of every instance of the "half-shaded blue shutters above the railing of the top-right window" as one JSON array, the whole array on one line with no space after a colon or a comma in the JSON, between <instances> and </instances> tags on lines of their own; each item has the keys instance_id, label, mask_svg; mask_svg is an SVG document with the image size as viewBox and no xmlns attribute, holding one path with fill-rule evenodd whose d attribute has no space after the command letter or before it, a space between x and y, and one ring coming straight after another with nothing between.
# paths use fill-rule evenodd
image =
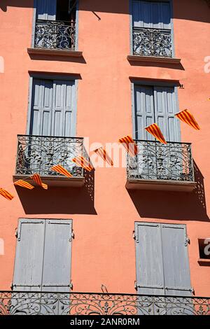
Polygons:
<instances>
[{"instance_id":1,"label":"half-shaded blue shutters above the railing of the top-right window","mask_svg":"<svg viewBox=\"0 0 210 329\"><path fill-rule=\"evenodd\" d=\"M132 18L134 27L171 29L171 7L167 1L133 1Z\"/></svg>"}]
</instances>

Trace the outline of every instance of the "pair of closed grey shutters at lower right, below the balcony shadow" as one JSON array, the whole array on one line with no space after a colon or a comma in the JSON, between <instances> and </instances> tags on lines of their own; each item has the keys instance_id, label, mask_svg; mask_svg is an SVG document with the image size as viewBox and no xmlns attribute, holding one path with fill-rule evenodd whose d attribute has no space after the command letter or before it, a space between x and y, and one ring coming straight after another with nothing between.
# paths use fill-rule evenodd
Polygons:
<instances>
[{"instance_id":1,"label":"pair of closed grey shutters at lower right, below the balcony shadow","mask_svg":"<svg viewBox=\"0 0 210 329\"><path fill-rule=\"evenodd\" d=\"M191 295L186 225L136 223L139 294Z\"/></svg>"}]
</instances>

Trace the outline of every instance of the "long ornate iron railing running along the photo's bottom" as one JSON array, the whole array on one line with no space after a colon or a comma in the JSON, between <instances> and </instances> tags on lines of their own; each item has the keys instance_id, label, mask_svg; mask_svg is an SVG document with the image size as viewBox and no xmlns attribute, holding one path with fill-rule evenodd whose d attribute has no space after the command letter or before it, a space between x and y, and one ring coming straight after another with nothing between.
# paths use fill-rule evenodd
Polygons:
<instances>
[{"instance_id":1,"label":"long ornate iron railing running along the photo's bottom","mask_svg":"<svg viewBox=\"0 0 210 329\"><path fill-rule=\"evenodd\" d=\"M0 292L0 315L210 315L209 297Z\"/></svg>"}]
</instances>

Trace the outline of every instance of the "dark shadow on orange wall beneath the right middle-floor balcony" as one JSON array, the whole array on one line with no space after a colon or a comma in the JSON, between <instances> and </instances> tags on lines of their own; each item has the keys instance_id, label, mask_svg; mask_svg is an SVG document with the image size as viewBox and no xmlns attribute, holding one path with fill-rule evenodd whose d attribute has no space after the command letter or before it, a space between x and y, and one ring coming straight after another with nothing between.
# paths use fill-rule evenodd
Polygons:
<instances>
[{"instance_id":1,"label":"dark shadow on orange wall beneath the right middle-floor balcony","mask_svg":"<svg viewBox=\"0 0 210 329\"><path fill-rule=\"evenodd\" d=\"M127 190L141 218L209 221L204 177L194 162L197 186L192 193Z\"/></svg>"}]
</instances>

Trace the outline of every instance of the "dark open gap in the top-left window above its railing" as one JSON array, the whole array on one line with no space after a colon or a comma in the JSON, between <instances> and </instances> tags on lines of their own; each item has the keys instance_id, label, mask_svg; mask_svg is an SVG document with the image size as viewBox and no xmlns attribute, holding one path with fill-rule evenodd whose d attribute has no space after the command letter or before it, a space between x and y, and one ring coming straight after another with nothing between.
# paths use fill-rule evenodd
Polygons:
<instances>
[{"instance_id":1,"label":"dark open gap in the top-left window above its railing","mask_svg":"<svg viewBox=\"0 0 210 329\"><path fill-rule=\"evenodd\" d=\"M76 22L76 0L57 0L56 20Z\"/></svg>"}]
</instances>

